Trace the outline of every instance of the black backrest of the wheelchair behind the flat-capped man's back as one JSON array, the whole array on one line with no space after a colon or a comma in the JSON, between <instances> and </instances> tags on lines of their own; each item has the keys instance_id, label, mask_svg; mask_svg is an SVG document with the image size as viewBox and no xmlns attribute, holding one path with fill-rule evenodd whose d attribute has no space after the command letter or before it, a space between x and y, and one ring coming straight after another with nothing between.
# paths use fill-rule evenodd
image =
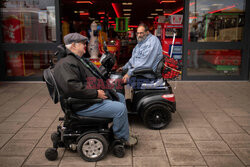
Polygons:
<instances>
[{"instance_id":1,"label":"black backrest of the wheelchair behind the flat-capped man's back","mask_svg":"<svg viewBox=\"0 0 250 167\"><path fill-rule=\"evenodd\" d=\"M50 97L55 104L58 103L60 94L51 68L47 68L43 71L43 78L46 82Z\"/></svg>"}]
</instances>

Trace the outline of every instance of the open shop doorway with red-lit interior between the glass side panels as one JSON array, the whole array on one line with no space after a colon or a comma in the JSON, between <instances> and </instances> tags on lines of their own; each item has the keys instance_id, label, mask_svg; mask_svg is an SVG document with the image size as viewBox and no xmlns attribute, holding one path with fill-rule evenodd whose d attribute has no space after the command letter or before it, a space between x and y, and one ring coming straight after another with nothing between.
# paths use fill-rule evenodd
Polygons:
<instances>
[{"instance_id":1,"label":"open shop doorway with red-lit interior between the glass side panels","mask_svg":"<svg viewBox=\"0 0 250 167\"><path fill-rule=\"evenodd\" d=\"M89 46L92 45L92 39L96 40L98 56L90 50L86 55L96 65L99 65L98 58L103 52L105 41L108 50L115 55L115 68L123 66L137 44L136 28L142 22L159 38L164 54L169 56L172 49L173 58L182 62L184 0L62 0L61 3L62 36L69 32L81 33L89 37ZM147 10L143 6L147 6ZM93 24L96 26L96 34L91 29Z\"/></svg>"}]
</instances>

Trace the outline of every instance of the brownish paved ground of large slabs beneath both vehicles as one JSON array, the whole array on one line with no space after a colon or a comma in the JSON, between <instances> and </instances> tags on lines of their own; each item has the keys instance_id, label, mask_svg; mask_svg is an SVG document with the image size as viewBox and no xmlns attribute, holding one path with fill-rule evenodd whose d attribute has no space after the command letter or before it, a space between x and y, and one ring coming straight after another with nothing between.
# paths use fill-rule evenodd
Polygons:
<instances>
[{"instance_id":1,"label":"brownish paved ground of large slabs beneath both vehicles","mask_svg":"<svg viewBox=\"0 0 250 167\"><path fill-rule=\"evenodd\" d=\"M177 112L163 130L146 129L131 115L139 143L124 158L108 154L86 162L59 149L56 161L44 152L63 116L44 83L0 83L1 167L250 167L250 82L172 82Z\"/></svg>"}]
</instances>

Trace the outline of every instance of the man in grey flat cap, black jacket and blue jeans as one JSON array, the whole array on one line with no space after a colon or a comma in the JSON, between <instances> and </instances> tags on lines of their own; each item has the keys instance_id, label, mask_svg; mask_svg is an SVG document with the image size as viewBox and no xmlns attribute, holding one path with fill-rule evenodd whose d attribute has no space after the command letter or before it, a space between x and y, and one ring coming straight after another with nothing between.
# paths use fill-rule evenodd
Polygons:
<instances>
[{"instance_id":1,"label":"man in grey flat cap, black jacket and blue jeans","mask_svg":"<svg viewBox=\"0 0 250 167\"><path fill-rule=\"evenodd\" d=\"M129 135L129 124L125 98L117 93L119 101L110 99L107 91L95 89L90 86L89 78L100 80L102 77L94 66L83 55L86 52L87 37L78 33L70 33L64 36L67 48L67 56L60 59L55 67L55 80L63 95L78 99L103 99L101 103L85 105L76 114L81 116L93 116L113 118L113 132L116 138L125 140L125 144L133 146L137 139ZM106 93L105 93L106 92Z\"/></svg>"}]
</instances>

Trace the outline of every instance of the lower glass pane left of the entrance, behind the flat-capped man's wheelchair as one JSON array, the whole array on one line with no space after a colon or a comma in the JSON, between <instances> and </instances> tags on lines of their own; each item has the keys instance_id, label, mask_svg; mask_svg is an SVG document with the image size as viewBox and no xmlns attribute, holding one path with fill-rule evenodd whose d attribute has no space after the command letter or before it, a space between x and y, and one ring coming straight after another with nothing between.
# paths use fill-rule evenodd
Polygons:
<instances>
[{"instance_id":1,"label":"lower glass pane left of the entrance, behind the flat-capped man's wheelchair","mask_svg":"<svg viewBox=\"0 0 250 167\"><path fill-rule=\"evenodd\" d=\"M53 55L52 51L5 52L6 76L42 76Z\"/></svg>"}]
</instances>

